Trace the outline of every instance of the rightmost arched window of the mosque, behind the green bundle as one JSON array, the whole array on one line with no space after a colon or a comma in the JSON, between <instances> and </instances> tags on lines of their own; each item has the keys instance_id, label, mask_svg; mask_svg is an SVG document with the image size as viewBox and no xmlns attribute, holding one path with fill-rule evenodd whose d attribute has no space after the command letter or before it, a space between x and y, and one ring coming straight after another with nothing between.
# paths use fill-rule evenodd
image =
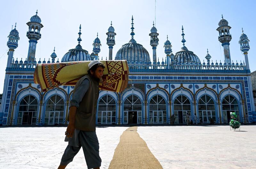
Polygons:
<instances>
[{"instance_id":1,"label":"rightmost arched window of the mosque, behind the green bundle","mask_svg":"<svg viewBox=\"0 0 256 169\"><path fill-rule=\"evenodd\" d=\"M237 115L236 120L240 121L239 115L239 105L235 97L231 95L227 95L222 100L222 114L223 114L223 122L229 122L230 120L230 112L235 112Z\"/></svg>"}]
</instances>

